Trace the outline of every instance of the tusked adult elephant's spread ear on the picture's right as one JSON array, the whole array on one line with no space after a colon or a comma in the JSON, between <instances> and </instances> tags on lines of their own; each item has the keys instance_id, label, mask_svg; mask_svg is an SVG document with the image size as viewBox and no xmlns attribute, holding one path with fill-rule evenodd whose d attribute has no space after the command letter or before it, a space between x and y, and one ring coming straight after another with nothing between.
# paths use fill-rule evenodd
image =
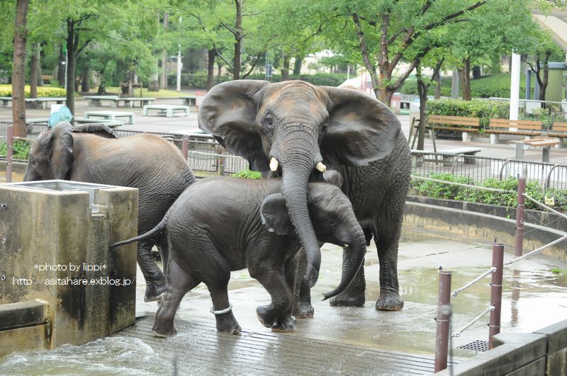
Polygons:
<instances>
[{"instance_id":1,"label":"tusked adult elephant's spread ear on the picture's right","mask_svg":"<svg viewBox=\"0 0 567 376\"><path fill-rule=\"evenodd\" d=\"M321 88L329 96L329 127L320 146L325 161L366 166L392 152L401 125L388 106L359 91Z\"/></svg>"}]
</instances>

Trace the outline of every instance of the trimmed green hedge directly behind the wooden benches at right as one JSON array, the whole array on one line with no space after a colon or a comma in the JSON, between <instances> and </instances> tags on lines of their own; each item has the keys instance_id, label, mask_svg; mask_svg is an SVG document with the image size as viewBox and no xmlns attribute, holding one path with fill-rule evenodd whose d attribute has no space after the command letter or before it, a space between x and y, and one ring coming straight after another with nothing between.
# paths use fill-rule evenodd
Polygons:
<instances>
[{"instance_id":1,"label":"trimmed green hedge directly behind the wooden benches at right","mask_svg":"<svg viewBox=\"0 0 567 376\"><path fill-rule=\"evenodd\" d=\"M488 127L490 118L507 119L510 105L505 101L473 99L434 99L427 101L427 115L466 116L481 118L481 129ZM449 125L448 125L449 126Z\"/></svg>"}]
</instances>

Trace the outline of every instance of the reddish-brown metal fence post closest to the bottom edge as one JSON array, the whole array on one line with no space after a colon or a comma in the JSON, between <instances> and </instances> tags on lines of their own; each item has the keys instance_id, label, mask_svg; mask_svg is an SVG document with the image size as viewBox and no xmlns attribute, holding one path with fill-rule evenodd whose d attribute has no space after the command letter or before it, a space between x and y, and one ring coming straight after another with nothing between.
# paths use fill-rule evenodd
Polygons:
<instances>
[{"instance_id":1,"label":"reddish-brown metal fence post closest to the bottom edge","mask_svg":"<svg viewBox=\"0 0 567 376\"><path fill-rule=\"evenodd\" d=\"M449 353L449 320L451 319L451 272L439 270L439 306L435 334L435 372L447 368Z\"/></svg>"}]
</instances>

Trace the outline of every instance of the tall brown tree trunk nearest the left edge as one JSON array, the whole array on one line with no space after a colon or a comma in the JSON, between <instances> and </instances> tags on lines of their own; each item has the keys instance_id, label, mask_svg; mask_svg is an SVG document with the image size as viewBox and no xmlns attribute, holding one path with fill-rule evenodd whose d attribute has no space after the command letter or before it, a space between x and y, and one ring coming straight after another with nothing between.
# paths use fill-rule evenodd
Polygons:
<instances>
[{"instance_id":1,"label":"tall brown tree trunk nearest the left edge","mask_svg":"<svg viewBox=\"0 0 567 376\"><path fill-rule=\"evenodd\" d=\"M26 19L29 4L29 0L18 0L16 3L12 70L12 120L15 137L26 137L26 101L23 86L26 84Z\"/></svg>"}]
</instances>

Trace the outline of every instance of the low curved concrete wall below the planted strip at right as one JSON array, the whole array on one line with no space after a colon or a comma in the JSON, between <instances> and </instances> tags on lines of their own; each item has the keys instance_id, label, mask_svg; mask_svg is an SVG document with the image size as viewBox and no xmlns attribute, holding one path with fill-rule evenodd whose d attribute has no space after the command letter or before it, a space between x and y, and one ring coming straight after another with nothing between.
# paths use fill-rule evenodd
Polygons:
<instances>
[{"instance_id":1,"label":"low curved concrete wall below the planted strip at right","mask_svg":"<svg viewBox=\"0 0 567 376\"><path fill-rule=\"evenodd\" d=\"M516 221L495 215L406 202L404 224L486 243L492 243L496 238L499 242L503 242L509 251L515 246ZM549 227L528 223L524 224L524 233L524 253L549 244L567 234ZM542 253L567 261L567 241L544 249Z\"/></svg>"}]
</instances>

